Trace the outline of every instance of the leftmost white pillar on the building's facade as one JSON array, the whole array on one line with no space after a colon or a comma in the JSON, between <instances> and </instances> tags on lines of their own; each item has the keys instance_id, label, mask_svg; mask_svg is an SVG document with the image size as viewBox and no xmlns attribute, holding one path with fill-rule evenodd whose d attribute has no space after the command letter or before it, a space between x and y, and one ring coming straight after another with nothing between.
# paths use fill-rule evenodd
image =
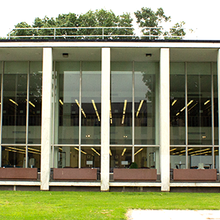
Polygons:
<instances>
[{"instance_id":1,"label":"leftmost white pillar on the building's facade","mask_svg":"<svg viewBox=\"0 0 220 220\"><path fill-rule=\"evenodd\" d=\"M43 48L41 190L49 190L51 154L52 48Z\"/></svg>"}]
</instances>

